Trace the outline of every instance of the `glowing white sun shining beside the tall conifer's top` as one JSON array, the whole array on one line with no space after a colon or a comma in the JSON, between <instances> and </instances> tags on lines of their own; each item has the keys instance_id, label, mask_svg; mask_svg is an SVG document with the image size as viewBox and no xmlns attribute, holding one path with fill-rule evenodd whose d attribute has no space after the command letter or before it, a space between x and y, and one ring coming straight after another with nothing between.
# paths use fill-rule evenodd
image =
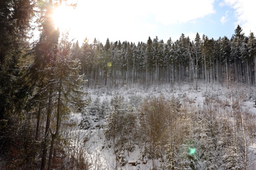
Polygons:
<instances>
[{"instance_id":1,"label":"glowing white sun shining beside the tall conifer's top","mask_svg":"<svg viewBox=\"0 0 256 170\"><path fill-rule=\"evenodd\" d=\"M75 24L75 9L66 4L60 5L53 11L54 27L61 31L69 31Z\"/></svg>"}]
</instances>

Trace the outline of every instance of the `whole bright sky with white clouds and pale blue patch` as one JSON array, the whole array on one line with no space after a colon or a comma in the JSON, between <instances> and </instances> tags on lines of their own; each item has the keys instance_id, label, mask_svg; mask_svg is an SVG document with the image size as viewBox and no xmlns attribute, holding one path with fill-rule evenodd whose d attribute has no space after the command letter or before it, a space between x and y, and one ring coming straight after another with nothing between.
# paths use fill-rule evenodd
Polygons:
<instances>
[{"instance_id":1,"label":"whole bright sky with white clouds and pale blue patch","mask_svg":"<svg viewBox=\"0 0 256 170\"><path fill-rule=\"evenodd\" d=\"M77 7L66 10L62 18L79 44L85 37L89 43L96 38L103 44L108 38L137 43L156 36L166 42L170 37L179 39L181 33L194 40L197 32L214 39L230 38L238 24L245 35L256 33L255 0L70 1ZM75 19L68 19L73 15Z\"/></svg>"}]
</instances>

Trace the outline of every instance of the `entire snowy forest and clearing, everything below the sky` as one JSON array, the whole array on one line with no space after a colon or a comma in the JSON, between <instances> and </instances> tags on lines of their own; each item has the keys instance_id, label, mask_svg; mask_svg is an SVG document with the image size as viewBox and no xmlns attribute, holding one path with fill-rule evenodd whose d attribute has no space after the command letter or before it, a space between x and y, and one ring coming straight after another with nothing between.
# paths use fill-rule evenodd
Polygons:
<instances>
[{"instance_id":1,"label":"entire snowy forest and clearing, everything below the sky","mask_svg":"<svg viewBox=\"0 0 256 170\"><path fill-rule=\"evenodd\" d=\"M0 169L256 168L253 32L79 44L59 3L0 1Z\"/></svg>"}]
</instances>

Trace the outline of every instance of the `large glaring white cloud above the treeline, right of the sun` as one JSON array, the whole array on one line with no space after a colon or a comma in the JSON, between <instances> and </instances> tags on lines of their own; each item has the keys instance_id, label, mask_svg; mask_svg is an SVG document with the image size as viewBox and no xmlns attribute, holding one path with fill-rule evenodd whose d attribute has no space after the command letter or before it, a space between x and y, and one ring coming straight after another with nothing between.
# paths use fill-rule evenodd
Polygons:
<instances>
[{"instance_id":1,"label":"large glaring white cloud above the treeline, right of the sun","mask_svg":"<svg viewBox=\"0 0 256 170\"><path fill-rule=\"evenodd\" d=\"M73 0L74 1L74 0ZM193 22L215 12L215 0L76 0L77 19L73 33L110 41L147 41L161 25ZM77 36L76 36L77 37ZM84 37L85 38L85 37ZM84 39L83 38L83 39ZM81 41L81 40L80 40Z\"/></svg>"}]
</instances>

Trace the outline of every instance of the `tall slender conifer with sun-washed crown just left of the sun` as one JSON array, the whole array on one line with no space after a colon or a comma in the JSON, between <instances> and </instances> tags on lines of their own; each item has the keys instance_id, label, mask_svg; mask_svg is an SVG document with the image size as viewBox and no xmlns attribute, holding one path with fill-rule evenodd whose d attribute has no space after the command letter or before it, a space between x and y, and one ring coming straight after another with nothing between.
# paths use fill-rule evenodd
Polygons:
<instances>
[{"instance_id":1,"label":"tall slender conifer with sun-washed crown just left of the sun","mask_svg":"<svg viewBox=\"0 0 256 170\"><path fill-rule=\"evenodd\" d=\"M58 37L59 31L54 28L53 19L51 18L51 14L53 12L53 3L49 1L46 5L46 9L43 7L42 10L46 10L45 16L42 17L42 33L39 39L39 42L35 46L35 69L44 69L47 74L47 84L49 88L48 94L48 106L47 106L47 120L45 124L45 137L43 141L43 154L41 159L41 169L45 169L46 160L47 160L47 151L48 151L48 139L50 133L50 124L51 124L51 116L53 113L53 70L56 61L56 53L58 49ZM46 69L48 68L48 69Z\"/></svg>"}]
</instances>

